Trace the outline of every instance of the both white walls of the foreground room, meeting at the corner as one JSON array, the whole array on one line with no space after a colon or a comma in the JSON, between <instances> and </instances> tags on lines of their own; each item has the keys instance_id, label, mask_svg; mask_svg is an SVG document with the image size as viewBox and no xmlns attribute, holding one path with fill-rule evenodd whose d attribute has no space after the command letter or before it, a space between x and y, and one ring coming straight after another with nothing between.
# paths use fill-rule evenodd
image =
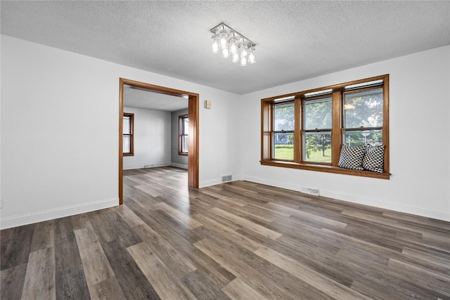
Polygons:
<instances>
[{"instance_id":1,"label":"both white walls of the foreground room, meeting at the corner","mask_svg":"<svg viewBox=\"0 0 450 300\"><path fill-rule=\"evenodd\" d=\"M0 227L118 204L120 77L200 94L200 187L233 174L450 220L449 52L445 46L239 96L1 35ZM389 181L259 164L261 98L387 73Z\"/></svg>"}]
</instances>

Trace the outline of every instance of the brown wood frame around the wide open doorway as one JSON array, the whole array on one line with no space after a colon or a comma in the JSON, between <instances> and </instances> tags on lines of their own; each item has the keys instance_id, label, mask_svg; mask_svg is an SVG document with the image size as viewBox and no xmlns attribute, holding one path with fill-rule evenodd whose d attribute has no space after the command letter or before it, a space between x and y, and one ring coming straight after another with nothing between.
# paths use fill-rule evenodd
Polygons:
<instances>
[{"instance_id":1,"label":"brown wood frame around the wide open doorway","mask_svg":"<svg viewBox=\"0 0 450 300\"><path fill-rule=\"evenodd\" d=\"M131 79L119 79L119 204L123 203L123 114L124 114L124 84L134 86L154 93L163 93L170 96L188 97L189 116L189 145L188 145L188 187L198 188L198 119L199 119L199 95L188 91L170 89L165 86L155 86L145 82Z\"/></svg>"}]
</instances>

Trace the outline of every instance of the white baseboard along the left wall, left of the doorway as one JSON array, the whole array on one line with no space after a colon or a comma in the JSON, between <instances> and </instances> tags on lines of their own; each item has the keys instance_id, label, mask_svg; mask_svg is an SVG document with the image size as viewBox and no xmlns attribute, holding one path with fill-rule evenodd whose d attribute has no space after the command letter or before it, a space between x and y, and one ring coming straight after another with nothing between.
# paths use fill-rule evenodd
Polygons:
<instances>
[{"instance_id":1,"label":"white baseboard along the left wall, left of the doorway","mask_svg":"<svg viewBox=\"0 0 450 300\"><path fill-rule=\"evenodd\" d=\"M85 212L96 211L98 209L115 207L117 205L119 205L119 198L111 198L96 202L71 205L68 207L59 207L56 209L37 211L32 214L8 216L6 218L0 218L0 229L23 226L41 221L49 221L53 219L62 218L64 216L72 216L74 214L83 214Z\"/></svg>"}]
</instances>

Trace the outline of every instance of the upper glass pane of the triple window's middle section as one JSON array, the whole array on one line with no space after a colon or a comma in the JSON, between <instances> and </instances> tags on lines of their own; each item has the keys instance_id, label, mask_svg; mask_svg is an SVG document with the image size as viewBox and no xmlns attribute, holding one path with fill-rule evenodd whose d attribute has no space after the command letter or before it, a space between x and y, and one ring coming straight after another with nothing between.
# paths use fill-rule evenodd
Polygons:
<instances>
[{"instance_id":1,"label":"upper glass pane of the triple window's middle section","mask_svg":"<svg viewBox=\"0 0 450 300\"><path fill-rule=\"evenodd\" d=\"M304 129L330 129L331 98L304 101Z\"/></svg>"}]
</instances>

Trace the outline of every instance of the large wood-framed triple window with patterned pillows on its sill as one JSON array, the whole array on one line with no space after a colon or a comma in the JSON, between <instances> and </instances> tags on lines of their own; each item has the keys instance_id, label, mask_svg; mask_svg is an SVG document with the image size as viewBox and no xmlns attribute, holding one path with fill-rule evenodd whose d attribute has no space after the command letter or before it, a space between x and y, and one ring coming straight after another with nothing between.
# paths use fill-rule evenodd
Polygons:
<instances>
[{"instance_id":1,"label":"large wood-framed triple window with patterned pillows on its sill","mask_svg":"<svg viewBox=\"0 0 450 300\"><path fill-rule=\"evenodd\" d=\"M261 163L389 178L388 88L383 75L262 99ZM383 172L338 167L342 145L384 145Z\"/></svg>"}]
</instances>

